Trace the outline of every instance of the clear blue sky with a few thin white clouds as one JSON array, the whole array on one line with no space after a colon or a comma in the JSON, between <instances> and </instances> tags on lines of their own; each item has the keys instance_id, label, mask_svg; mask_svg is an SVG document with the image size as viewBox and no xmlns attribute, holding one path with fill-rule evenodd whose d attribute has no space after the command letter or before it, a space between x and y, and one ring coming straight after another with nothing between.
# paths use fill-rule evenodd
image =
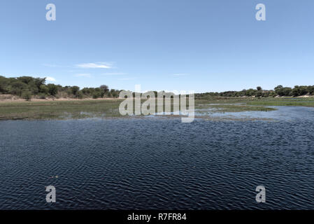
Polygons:
<instances>
[{"instance_id":1,"label":"clear blue sky with a few thin white clouds","mask_svg":"<svg viewBox=\"0 0 314 224\"><path fill-rule=\"evenodd\" d=\"M6 77L195 92L314 85L313 0L1 0L0 31Z\"/></svg>"}]
</instances>

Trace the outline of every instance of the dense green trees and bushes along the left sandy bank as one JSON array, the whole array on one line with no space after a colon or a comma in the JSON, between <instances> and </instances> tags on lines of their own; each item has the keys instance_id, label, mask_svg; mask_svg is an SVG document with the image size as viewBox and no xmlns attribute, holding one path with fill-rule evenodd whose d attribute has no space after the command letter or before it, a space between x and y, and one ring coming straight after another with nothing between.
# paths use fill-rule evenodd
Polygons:
<instances>
[{"instance_id":1,"label":"dense green trees and bushes along the left sandy bank","mask_svg":"<svg viewBox=\"0 0 314 224\"><path fill-rule=\"evenodd\" d=\"M0 76L0 94L13 94L23 99L32 97L45 99L46 97L56 98L104 98L119 97L120 90L109 90L108 85L100 87L85 87L80 90L78 86L62 86L45 84L45 78L33 78L22 76L17 78L6 78Z\"/></svg>"}]
</instances>

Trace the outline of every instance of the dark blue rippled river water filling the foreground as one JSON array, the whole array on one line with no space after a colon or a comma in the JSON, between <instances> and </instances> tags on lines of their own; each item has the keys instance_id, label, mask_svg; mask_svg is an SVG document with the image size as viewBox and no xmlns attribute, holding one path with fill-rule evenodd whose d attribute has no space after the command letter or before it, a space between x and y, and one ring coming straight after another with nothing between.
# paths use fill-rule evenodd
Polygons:
<instances>
[{"instance_id":1,"label":"dark blue rippled river water filling the foreground","mask_svg":"<svg viewBox=\"0 0 314 224\"><path fill-rule=\"evenodd\" d=\"M313 109L261 113L2 121L0 209L314 209Z\"/></svg>"}]
</instances>

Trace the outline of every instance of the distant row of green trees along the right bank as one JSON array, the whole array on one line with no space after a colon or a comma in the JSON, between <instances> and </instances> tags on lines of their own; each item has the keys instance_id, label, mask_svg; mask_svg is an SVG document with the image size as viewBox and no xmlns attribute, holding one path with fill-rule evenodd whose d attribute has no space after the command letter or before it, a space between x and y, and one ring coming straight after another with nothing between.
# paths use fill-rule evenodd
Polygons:
<instances>
[{"instance_id":1,"label":"distant row of green trees along the right bank","mask_svg":"<svg viewBox=\"0 0 314 224\"><path fill-rule=\"evenodd\" d=\"M296 85L294 88L278 85L273 90L263 90L257 87L249 90L227 91L227 92L206 92L196 94L197 99L206 97L299 97L304 95L314 95L314 85Z\"/></svg>"}]
</instances>

